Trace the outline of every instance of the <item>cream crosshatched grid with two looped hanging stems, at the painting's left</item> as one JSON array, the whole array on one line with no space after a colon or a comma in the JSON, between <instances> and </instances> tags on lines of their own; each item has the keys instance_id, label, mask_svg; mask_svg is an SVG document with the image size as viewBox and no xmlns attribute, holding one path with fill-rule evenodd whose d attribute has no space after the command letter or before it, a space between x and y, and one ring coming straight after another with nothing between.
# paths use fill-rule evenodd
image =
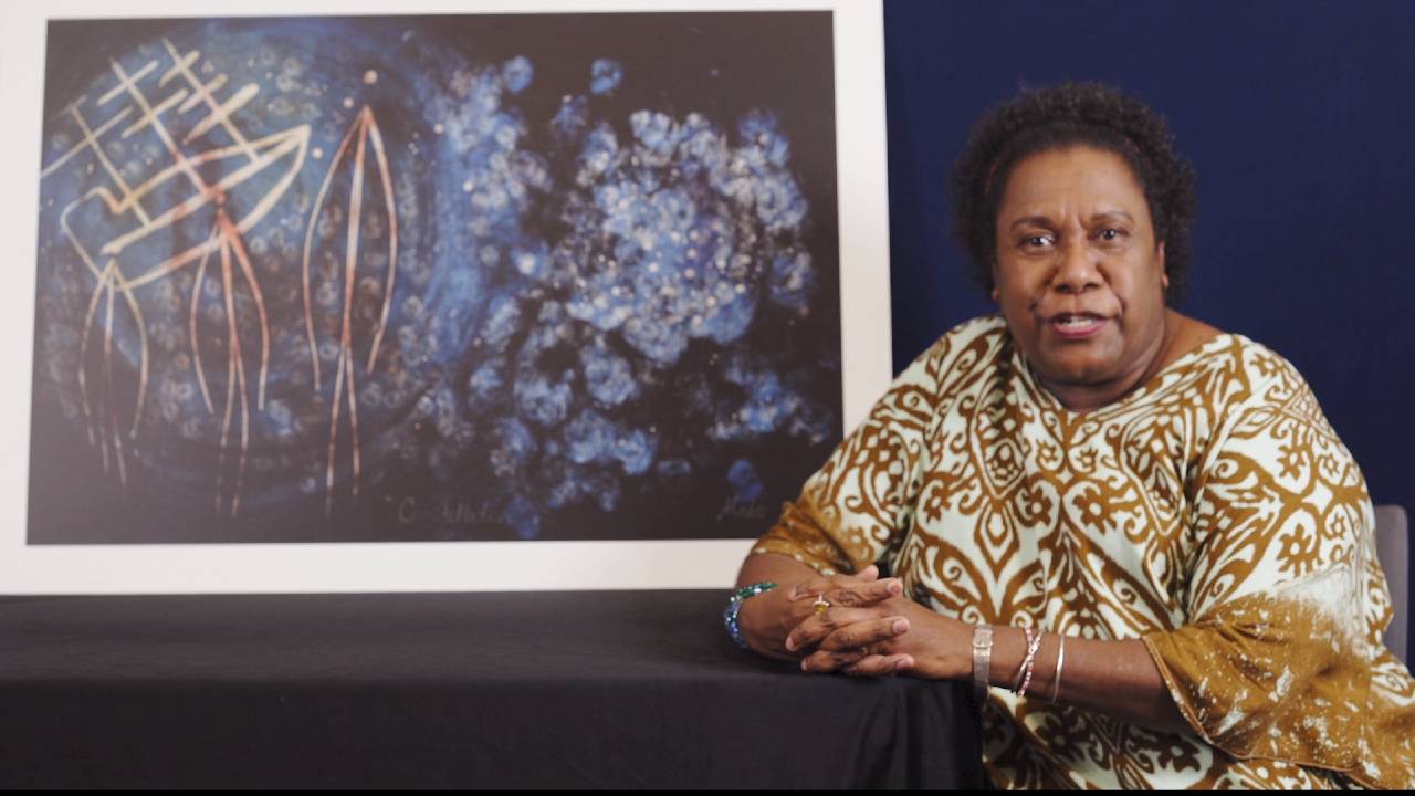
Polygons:
<instances>
[{"instance_id":1,"label":"cream crosshatched grid with two looped hanging stems, at the painting's left","mask_svg":"<svg viewBox=\"0 0 1415 796\"><path fill-rule=\"evenodd\" d=\"M92 188L83 194L83 197L67 205L59 215L65 238L68 238L75 252L93 273L93 293L89 302L88 317L85 319L78 371L81 401L85 418L89 422L89 439L100 448L105 470L112 459L119 479L125 483L127 480L127 467L123 453L125 431L117 425L117 402L113 395L113 326L117 320L116 313L119 312L115 306L115 296L122 295L123 309L130 313L130 322L139 339L139 357L142 365L136 387L133 421L130 428L126 429L126 436L130 440L136 440L142 421L143 402L147 395L149 347L143 313L134 292L147 283L164 279L171 273L187 268L192 262L198 263L191 297L192 365L197 380L201 384L202 398L205 399L208 412L216 411L212 405L211 392L208 390L207 377L201 363L201 347L197 339L195 317L201 288L207 276L207 258L212 252L219 252L221 295L225 303L228 322L228 368L225 380L226 395L221 409L221 462L218 462L215 506L218 511L224 504L229 506L231 514L236 514L241 508L241 482L245 474L246 446L249 445L250 401L246 382L246 363L241 350L241 330L238 327L233 303L235 292L239 288L233 269L239 266L243 288L248 290L248 295L253 300L259 314L256 326L260 337L260 374L256 381L256 404L263 408L265 384L269 368L270 327L266 317L265 300L260 293L260 283L250 266L250 258L246 254L241 237L245 231L250 229L262 218L265 218L270 208L289 188L291 180L304 164L306 147L308 144L308 127L293 127L256 142L248 140L235 126L231 115L255 98L259 93L259 88L253 84L246 84L233 92L226 102L218 103L214 92L225 85L226 75L218 74L209 82L204 84L191 71L191 64L200 57L200 52L191 51L181 54L167 40L163 40L163 45L171 58L166 71L161 71L161 65L156 59L146 62L142 68L132 74L125 71L123 65L116 59L110 62L113 75L117 78L117 85L102 95L92 110L102 113L109 108L113 108L115 101L119 99L127 99L130 103L117 106L113 110L113 115L106 120L95 126L85 118L83 108L88 103L86 98L79 98L68 105L65 110L68 116L72 118L74 125L82 132L82 139L72 149L55 159L54 163L47 166L41 173L41 178L50 177L61 167L71 166L69 161L81 153L91 154L112 178L110 186L98 186ZM170 91L170 93L154 105L149 99L142 84L144 79L158 74L160 76L156 79L154 88L158 91ZM181 78L181 81L187 85L174 85L170 88L168 84L173 84L174 78ZM197 105L205 105L208 113L201 118L201 120L185 133L181 143L178 143L173 130L168 129L168 123L164 122L164 113L173 108L177 109L177 113L187 112ZM112 159L105 153L102 136L116 129L125 119L136 116L137 113L140 113L140 116L137 116L132 125L122 129L122 132L117 133L119 137L122 140L127 140L137 133L150 130L161 142L167 157L170 157L170 163L164 164L142 183L130 186L123 174L115 167ZM231 146L194 153L187 152L185 147L191 147L202 136L218 126L231 136L233 142ZM238 160L239 163L231 164L229 161L232 160ZM201 176L198 169L212 163L229 164L232 167L218 181L209 183ZM250 210L246 214L243 214L239 220L232 220L226 210L228 198L233 193L239 191L239 188L246 184L252 176L260 174L267 169L280 167L284 169L282 177L250 204ZM160 197L164 193L170 193L164 188L174 181L188 183L190 193L171 207L160 208ZM177 191L178 195L181 193L183 191L180 190ZM75 231L68 222L68 217L79 207L79 204L92 200L102 203L103 210L113 222L113 228L117 231L117 234L103 239L98 246L98 258L103 262L102 268L96 265L95 256L91 254L92 244L85 242L92 241L91 235L93 232L100 232L100 229L95 228L100 225L89 225L81 231ZM158 205L160 210L154 208L149 212L149 207L144 205L144 201ZM160 262L146 261L142 255L125 256L125 251L130 249L134 244L143 241L144 238L149 238L161 229L167 229L174 224L201 217L204 212L211 211L215 214L215 221L211 227L211 235L204 242L177 252ZM99 314L102 314L102 317L99 317ZM102 326L103 353L102 361L95 364L88 356L88 346L91 331L95 331L95 327L98 326ZM98 408L91 405L89 395L89 375L95 368L100 370L103 375L102 384L98 388L98 392L100 394L98 398ZM231 490L229 501L225 501L225 490L222 484L225 480L225 467L222 465L232 438L232 411L238 399L238 392L241 402L241 443L236 453L238 465L235 486Z\"/></svg>"}]
</instances>

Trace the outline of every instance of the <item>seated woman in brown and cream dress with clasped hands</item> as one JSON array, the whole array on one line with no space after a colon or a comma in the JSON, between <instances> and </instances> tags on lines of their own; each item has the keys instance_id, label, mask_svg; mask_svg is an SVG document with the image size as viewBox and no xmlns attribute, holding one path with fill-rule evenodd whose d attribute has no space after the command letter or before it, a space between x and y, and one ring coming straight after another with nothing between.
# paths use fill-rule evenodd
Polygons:
<instances>
[{"instance_id":1,"label":"seated woman in brown and cream dress with clasped hands","mask_svg":"<svg viewBox=\"0 0 1415 796\"><path fill-rule=\"evenodd\" d=\"M972 678L999 786L1415 786L1361 472L1286 360L1172 309L1194 191L1163 120L1027 92L954 183L1000 314L807 482L729 627L807 671Z\"/></svg>"}]
</instances>

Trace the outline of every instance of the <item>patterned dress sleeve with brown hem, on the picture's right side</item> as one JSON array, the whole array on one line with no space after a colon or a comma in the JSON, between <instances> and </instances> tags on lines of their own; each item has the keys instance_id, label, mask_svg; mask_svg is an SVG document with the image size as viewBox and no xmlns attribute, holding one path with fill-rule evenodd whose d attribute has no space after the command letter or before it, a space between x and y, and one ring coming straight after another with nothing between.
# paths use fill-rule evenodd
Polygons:
<instances>
[{"instance_id":1,"label":"patterned dress sleeve with brown hem, on the picture's right side","mask_svg":"<svg viewBox=\"0 0 1415 796\"><path fill-rule=\"evenodd\" d=\"M1145 636L1193 729L1238 759L1415 785L1415 704L1381 644L1391 605L1364 480L1300 375L1251 350L1254 385L1204 463L1187 622Z\"/></svg>"}]
</instances>

